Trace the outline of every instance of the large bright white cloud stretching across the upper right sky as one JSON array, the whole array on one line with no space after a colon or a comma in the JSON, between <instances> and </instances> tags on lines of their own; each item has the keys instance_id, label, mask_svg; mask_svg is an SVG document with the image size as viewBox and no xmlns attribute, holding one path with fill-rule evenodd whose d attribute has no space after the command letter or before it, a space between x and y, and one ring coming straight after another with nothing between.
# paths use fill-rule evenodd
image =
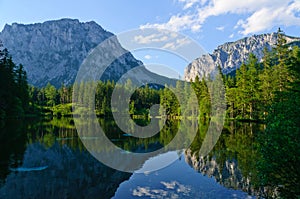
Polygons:
<instances>
[{"instance_id":1,"label":"large bright white cloud stretching across the upper right sky","mask_svg":"<svg viewBox=\"0 0 300 199\"><path fill-rule=\"evenodd\" d=\"M242 14L235 28L243 35L266 31L276 26L300 25L299 0L177 0L183 13L170 17L166 23L146 24L141 27L164 28L173 31L197 32L209 17ZM298 15L296 15L298 13Z\"/></svg>"}]
</instances>

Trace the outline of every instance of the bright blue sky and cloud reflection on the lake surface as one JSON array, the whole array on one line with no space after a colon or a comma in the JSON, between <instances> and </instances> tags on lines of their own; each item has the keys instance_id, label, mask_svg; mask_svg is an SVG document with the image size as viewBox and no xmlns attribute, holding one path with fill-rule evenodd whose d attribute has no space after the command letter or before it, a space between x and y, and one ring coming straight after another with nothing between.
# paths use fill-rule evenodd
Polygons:
<instances>
[{"instance_id":1,"label":"bright blue sky and cloud reflection on the lake surface","mask_svg":"<svg viewBox=\"0 0 300 199\"><path fill-rule=\"evenodd\" d=\"M170 152L168 155L176 155ZM159 161L153 160L154 161ZM134 173L118 188L114 199L121 198L254 198L238 190L227 189L195 172L184 156L155 172Z\"/></svg>"}]
</instances>

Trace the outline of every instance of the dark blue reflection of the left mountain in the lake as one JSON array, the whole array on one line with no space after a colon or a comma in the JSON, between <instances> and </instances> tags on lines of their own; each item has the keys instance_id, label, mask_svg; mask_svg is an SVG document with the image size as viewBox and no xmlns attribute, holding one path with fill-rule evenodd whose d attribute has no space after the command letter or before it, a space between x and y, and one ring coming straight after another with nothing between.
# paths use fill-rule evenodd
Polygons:
<instances>
[{"instance_id":1,"label":"dark blue reflection of the left mountain in the lake","mask_svg":"<svg viewBox=\"0 0 300 199\"><path fill-rule=\"evenodd\" d=\"M86 150L58 143L28 145L22 165L11 170L0 198L111 198L131 176L105 166Z\"/></svg>"}]
</instances>

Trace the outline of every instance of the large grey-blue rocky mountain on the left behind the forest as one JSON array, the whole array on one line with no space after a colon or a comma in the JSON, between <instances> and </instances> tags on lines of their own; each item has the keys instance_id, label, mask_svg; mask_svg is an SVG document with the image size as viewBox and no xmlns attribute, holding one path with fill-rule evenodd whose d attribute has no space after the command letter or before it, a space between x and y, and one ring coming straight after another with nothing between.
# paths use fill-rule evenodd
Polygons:
<instances>
[{"instance_id":1,"label":"large grey-blue rocky mountain on the left behind the forest","mask_svg":"<svg viewBox=\"0 0 300 199\"><path fill-rule=\"evenodd\" d=\"M78 69L88 53L98 44L114 35L91 21L82 23L76 19L61 19L29 25L13 23L5 25L0 40L9 50L16 64L23 64L28 82L42 87L48 82L60 87L74 82ZM102 76L102 80L117 80L126 71L143 63L122 48L116 37L110 40L107 52L124 52ZM145 68L140 68L138 81L163 78ZM133 77L134 78L134 77Z\"/></svg>"}]
</instances>

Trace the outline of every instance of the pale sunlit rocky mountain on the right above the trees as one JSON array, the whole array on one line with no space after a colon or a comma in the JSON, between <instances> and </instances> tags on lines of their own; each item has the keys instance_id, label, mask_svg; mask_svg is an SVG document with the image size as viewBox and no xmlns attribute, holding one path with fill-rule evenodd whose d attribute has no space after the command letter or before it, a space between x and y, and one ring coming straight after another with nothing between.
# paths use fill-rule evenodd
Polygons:
<instances>
[{"instance_id":1,"label":"pale sunlit rocky mountain on the right above the trees","mask_svg":"<svg viewBox=\"0 0 300 199\"><path fill-rule=\"evenodd\" d=\"M300 38L286 36L288 43L297 43ZM184 78L187 81L194 80L196 76L200 78L211 73L220 66L224 74L235 71L241 64L247 61L250 53L256 55L262 61L263 49L271 49L277 41L277 33L253 35L240 39L236 42L228 42L220 45L212 54L205 54L192 63L185 71Z\"/></svg>"}]
</instances>

